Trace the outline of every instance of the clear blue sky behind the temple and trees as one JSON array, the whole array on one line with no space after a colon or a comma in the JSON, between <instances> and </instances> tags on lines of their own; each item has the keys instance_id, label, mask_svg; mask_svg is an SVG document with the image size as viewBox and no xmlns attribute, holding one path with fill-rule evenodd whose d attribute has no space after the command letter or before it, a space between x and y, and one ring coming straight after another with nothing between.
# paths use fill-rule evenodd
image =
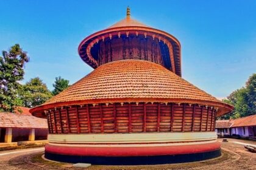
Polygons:
<instances>
[{"instance_id":1,"label":"clear blue sky behind the temple and trees","mask_svg":"<svg viewBox=\"0 0 256 170\"><path fill-rule=\"evenodd\" d=\"M0 50L28 52L24 82L55 77L70 83L93 69L79 57L86 36L126 16L176 36L182 77L215 97L244 86L256 73L256 1L0 1Z\"/></svg>"}]
</instances>

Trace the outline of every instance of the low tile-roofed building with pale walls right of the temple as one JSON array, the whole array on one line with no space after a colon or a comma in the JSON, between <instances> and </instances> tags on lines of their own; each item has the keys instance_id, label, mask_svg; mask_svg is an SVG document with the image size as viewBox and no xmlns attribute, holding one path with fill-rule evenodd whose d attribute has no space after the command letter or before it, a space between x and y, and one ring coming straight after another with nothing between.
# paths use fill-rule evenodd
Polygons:
<instances>
[{"instance_id":1,"label":"low tile-roofed building with pale walls right of the temple","mask_svg":"<svg viewBox=\"0 0 256 170\"><path fill-rule=\"evenodd\" d=\"M256 114L235 120L217 120L215 131L221 137L243 137L256 140Z\"/></svg>"}]
</instances>

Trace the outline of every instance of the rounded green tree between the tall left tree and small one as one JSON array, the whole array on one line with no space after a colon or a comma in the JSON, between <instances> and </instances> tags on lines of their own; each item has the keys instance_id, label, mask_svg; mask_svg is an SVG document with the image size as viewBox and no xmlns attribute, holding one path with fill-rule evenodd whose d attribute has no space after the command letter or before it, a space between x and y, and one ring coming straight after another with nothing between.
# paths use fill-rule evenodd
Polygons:
<instances>
[{"instance_id":1,"label":"rounded green tree between the tall left tree and small one","mask_svg":"<svg viewBox=\"0 0 256 170\"><path fill-rule=\"evenodd\" d=\"M24 84L20 95L23 106L30 108L43 104L52 97L51 91L38 77L30 79L30 81Z\"/></svg>"}]
</instances>

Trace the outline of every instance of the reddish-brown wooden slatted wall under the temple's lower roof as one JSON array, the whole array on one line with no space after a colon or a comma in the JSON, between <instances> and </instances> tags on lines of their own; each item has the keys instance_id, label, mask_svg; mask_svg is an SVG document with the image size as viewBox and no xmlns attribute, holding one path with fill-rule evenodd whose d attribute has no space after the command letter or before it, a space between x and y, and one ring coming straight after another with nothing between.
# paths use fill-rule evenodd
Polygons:
<instances>
[{"instance_id":1,"label":"reddish-brown wooden slatted wall under the temple's lower roof","mask_svg":"<svg viewBox=\"0 0 256 170\"><path fill-rule=\"evenodd\" d=\"M199 132L215 130L216 110L197 104L86 104L51 110L50 134Z\"/></svg>"}]
</instances>

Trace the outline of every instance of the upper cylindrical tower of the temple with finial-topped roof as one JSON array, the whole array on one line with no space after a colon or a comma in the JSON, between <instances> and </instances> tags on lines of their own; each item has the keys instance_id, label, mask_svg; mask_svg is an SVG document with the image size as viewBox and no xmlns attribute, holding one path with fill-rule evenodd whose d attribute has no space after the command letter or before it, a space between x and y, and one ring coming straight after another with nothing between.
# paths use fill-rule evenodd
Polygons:
<instances>
[{"instance_id":1,"label":"upper cylindrical tower of the temple with finial-topped roof","mask_svg":"<svg viewBox=\"0 0 256 170\"><path fill-rule=\"evenodd\" d=\"M117 60L146 60L181 77L180 42L169 33L132 19L129 7L125 19L85 38L78 51L94 69Z\"/></svg>"}]
</instances>

